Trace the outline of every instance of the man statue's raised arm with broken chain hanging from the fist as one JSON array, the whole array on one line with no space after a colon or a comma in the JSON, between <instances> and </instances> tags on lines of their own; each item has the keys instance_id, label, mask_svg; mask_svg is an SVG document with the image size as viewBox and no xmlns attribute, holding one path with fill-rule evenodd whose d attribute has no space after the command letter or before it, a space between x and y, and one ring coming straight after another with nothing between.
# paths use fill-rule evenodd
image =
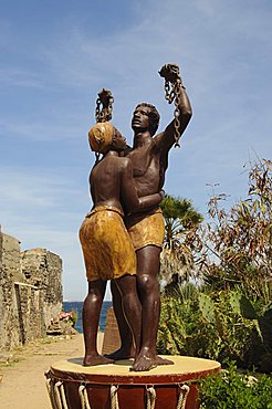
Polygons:
<instances>
[{"instance_id":1,"label":"man statue's raised arm with broken chain hanging from the fist","mask_svg":"<svg viewBox=\"0 0 272 409\"><path fill-rule=\"evenodd\" d=\"M184 134L190 122L192 109L182 84L182 80L179 75L178 65L166 64L161 67L159 74L165 78L166 99L169 104L174 101L176 108L174 120L163 133L158 134L154 140L159 149L168 151L174 144L178 146L178 139Z\"/></svg>"}]
</instances>

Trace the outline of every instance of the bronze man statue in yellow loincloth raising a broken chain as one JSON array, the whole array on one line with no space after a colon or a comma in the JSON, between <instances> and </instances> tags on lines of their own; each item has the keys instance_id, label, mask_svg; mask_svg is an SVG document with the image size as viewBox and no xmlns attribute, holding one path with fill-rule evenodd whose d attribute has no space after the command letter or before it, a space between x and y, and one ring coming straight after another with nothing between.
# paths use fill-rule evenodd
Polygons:
<instances>
[{"instance_id":1,"label":"bronze man statue in yellow loincloth raising a broken chain","mask_svg":"<svg viewBox=\"0 0 272 409\"><path fill-rule=\"evenodd\" d=\"M166 80L174 82L177 77L176 65L165 65L161 70ZM161 74L160 72L160 74ZM168 167L168 154L172 145L185 132L190 118L191 106L180 81L179 93L176 96L177 119L166 129L154 136L159 123L159 114L150 104L139 104L133 114L134 130L133 150L127 157L133 162L134 183L139 197L158 192L165 181ZM178 125L177 125L178 124ZM176 125L176 126L175 126ZM177 135L178 132L178 135ZM126 227L133 241L137 256L137 289L142 304L142 347L133 366L134 370L149 370L157 365L170 361L161 359L156 354L156 342L160 313L159 297L159 254L164 240L164 220L159 208L142 214L126 218ZM124 359L130 356L129 328L122 316L118 293L112 285L115 315L119 326L122 347L108 357Z\"/></svg>"}]
</instances>

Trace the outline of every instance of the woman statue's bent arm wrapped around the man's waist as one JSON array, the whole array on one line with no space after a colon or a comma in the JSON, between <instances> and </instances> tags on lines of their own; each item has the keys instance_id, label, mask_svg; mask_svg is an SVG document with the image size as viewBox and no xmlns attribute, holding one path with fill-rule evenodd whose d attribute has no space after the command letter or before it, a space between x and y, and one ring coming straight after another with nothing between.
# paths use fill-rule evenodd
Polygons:
<instances>
[{"instance_id":1,"label":"woman statue's bent arm wrapped around the man's waist","mask_svg":"<svg viewBox=\"0 0 272 409\"><path fill-rule=\"evenodd\" d=\"M128 158L123 158L124 168L122 172L121 197L122 206L126 213L135 213L153 209L159 204L164 193L155 193L138 198L133 180L133 164Z\"/></svg>"}]
</instances>

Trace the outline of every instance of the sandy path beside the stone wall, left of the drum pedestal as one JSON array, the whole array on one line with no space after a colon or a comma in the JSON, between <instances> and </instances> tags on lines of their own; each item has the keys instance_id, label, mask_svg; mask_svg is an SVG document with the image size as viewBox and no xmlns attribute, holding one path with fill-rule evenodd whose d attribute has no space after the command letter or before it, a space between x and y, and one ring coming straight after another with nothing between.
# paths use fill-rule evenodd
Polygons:
<instances>
[{"instance_id":1,"label":"sandy path beside the stone wall, left of the drum pedestal","mask_svg":"<svg viewBox=\"0 0 272 409\"><path fill-rule=\"evenodd\" d=\"M98 334L102 345L103 334ZM13 361L1 364L0 408L3 409L51 409L45 387L44 371L56 360L82 357L83 336L70 339L55 337L34 342L13 352Z\"/></svg>"}]
</instances>

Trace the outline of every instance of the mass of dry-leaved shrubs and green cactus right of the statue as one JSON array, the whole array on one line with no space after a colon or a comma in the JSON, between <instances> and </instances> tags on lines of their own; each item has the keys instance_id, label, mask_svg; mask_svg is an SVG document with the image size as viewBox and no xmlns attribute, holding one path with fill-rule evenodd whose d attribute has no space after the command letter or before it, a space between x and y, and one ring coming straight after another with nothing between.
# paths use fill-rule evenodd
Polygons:
<instances>
[{"instance_id":1,"label":"mass of dry-leaved shrubs and green cactus right of the statue","mask_svg":"<svg viewBox=\"0 0 272 409\"><path fill-rule=\"evenodd\" d=\"M170 295L163 295L160 353L272 370L271 168L270 160L251 165L245 200L227 212L220 208L226 196L211 198L210 221L184 232L198 286L187 273Z\"/></svg>"}]
</instances>

